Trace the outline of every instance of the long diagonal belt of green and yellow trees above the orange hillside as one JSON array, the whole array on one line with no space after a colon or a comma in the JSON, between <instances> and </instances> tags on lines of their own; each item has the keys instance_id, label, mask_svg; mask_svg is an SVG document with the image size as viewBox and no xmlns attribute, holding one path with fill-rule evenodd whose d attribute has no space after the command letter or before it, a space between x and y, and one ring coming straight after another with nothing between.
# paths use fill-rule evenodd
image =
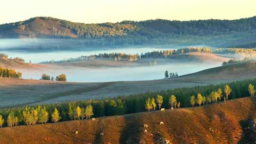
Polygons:
<instances>
[{"instance_id":1,"label":"long diagonal belt of green and yellow trees above the orange hillside","mask_svg":"<svg viewBox=\"0 0 256 144\"><path fill-rule=\"evenodd\" d=\"M219 85L146 92L113 99L84 100L0 109L0 126L30 125L210 104L255 95L256 79ZM197 96L197 97L195 97ZM47 117L48 116L48 117ZM9 117L9 118L8 118ZM18 117L18 118L16 118ZM4 119L4 120L3 120ZM9 120L8 120L9 119ZM48 120L48 121L47 121ZM3 123L1 123L4 121ZM8 122L9 121L9 122Z\"/></svg>"}]
</instances>

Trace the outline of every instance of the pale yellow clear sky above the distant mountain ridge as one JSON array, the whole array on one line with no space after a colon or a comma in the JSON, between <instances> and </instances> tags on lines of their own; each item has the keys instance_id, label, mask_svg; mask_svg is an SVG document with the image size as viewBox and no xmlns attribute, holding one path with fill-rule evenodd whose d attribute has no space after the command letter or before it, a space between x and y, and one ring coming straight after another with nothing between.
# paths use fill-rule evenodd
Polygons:
<instances>
[{"instance_id":1,"label":"pale yellow clear sky above the distant mountain ridge","mask_svg":"<svg viewBox=\"0 0 256 144\"><path fill-rule=\"evenodd\" d=\"M163 18L238 19L256 16L256 0L2 0L0 24L37 16L102 23Z\"/></svg>"}]
</instances>

